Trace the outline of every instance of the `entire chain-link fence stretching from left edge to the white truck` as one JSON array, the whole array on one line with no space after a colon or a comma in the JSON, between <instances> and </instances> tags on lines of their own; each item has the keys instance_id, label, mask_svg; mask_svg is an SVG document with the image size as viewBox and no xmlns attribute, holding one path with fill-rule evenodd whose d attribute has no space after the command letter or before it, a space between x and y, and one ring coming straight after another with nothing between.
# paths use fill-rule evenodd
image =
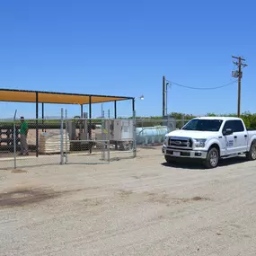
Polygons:
<instances>
[{"instance_id":1,"label":"entire chain-link fence stretching from left edge to the white truck","mask_svg":"<svg viewBox=\"0 0 256 256\"><path fill-rule=\"evenodd\" d=\"M162 154L167 133L189 120L67 118L0 120L0 169L65 163L110 163ZM28 132L26 132L28 128ZM155 150L159 149L159 150Z\"/></svg>"}]
</instances>

